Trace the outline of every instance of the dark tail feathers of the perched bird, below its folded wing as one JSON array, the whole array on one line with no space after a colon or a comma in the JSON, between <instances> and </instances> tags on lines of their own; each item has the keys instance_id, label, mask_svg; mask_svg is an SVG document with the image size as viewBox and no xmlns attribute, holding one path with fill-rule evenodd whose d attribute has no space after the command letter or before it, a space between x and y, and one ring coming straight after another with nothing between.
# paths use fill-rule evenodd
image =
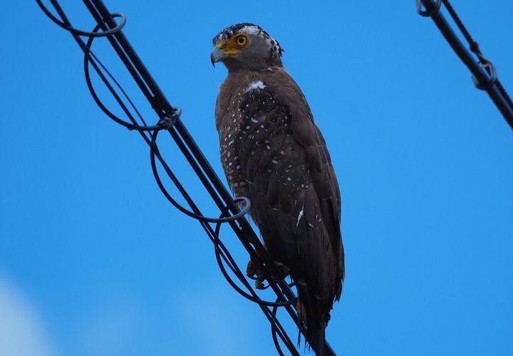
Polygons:
<instances>
[{"instance_id":1,"label":"dark tail feathers of the perched bird, below its folded wing","mask_svg":"<svg viewBox=\"0 0 513 356\"><path fill-rule=\"evenodd\" d=\"M318 300L306 285L298 285L298 305L300 337L304 332L306 341L317 356L324 355L325 330L330 308Z\"/></svg>"}]
</instances>

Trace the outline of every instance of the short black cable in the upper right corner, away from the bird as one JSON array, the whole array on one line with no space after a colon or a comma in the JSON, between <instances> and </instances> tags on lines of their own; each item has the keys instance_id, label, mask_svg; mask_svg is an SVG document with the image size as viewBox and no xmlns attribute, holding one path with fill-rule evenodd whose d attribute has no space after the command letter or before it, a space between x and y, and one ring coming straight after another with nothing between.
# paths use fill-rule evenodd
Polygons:
<instances>
[{"instance_id":1,"label":"short black cable in the upper right corner, away from the bird","mask_svg":"<svg viewBox=\"0 0 513 356\"><path fill-rule=\"evenodd\" d=\"M504 116L504 119L513 128L513 102L509 97L507 91L502 86L502 83L497 77L497 70L493 63L489 61L481 53L480 46L470 36L469 31L457 15L455 9L450 4L449 0L416 0L417 11L420 16L431 17L432 21L435 22L442 35L445 37L447 42L450 44L452 49L456 52L457 56L460 57L463 63L469 68L472 73L472 81L478 89L484 90L488 93L489 97L492 98L495 106L499 109ZM452 30L451 26L447 23L445 16L440 11L442 3L444 4L447 12L450 14L452 19L455 21L456 26L462 32L465 40L469 44L469 49L477 56L477 60L472 56L467 47L462 44L462 41ZM425 9L423 9L423 6Z\"/></svg>"}]
</instances>

